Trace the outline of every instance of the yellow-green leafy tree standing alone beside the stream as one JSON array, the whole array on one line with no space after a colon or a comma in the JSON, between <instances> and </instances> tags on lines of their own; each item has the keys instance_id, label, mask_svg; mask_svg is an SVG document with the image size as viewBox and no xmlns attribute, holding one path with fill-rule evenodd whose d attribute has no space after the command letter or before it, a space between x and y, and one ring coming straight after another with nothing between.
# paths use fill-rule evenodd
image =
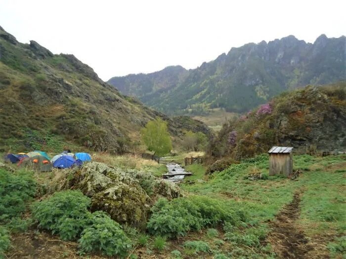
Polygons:
<instances>
[{"instance_id":1,"label":"yellow-green leafy tree standing alone beside the stream","mask_svg":"<svg viewBox=\"0 0 346 259\"><path fill-rule=\"evenodd\" d=\"M149 121L141 130L142 140L147 148L157 155L167 154L172 149L167 123L161 118Z\"/></svg>"}]
</instances>

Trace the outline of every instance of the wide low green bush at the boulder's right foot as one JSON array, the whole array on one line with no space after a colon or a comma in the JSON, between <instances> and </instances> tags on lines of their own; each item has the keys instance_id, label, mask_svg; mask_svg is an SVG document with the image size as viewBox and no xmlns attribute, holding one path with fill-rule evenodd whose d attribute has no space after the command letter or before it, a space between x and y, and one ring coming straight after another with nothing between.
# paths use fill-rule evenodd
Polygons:
<instances>
[{"instance_id":1,"label":"wide low green bush at the boulder's right foot","mask_svg":"<svg viewBox=\"0 0 346 259\"><path fill-rule=\"evenodd\" d=\"M166 237L184 236L190 230L230 222L234 225L245 221L241 211L234 211L227 204L204 196L159 199L152 208L147 228L150 233Z\"/></svg>"}]
</instances>

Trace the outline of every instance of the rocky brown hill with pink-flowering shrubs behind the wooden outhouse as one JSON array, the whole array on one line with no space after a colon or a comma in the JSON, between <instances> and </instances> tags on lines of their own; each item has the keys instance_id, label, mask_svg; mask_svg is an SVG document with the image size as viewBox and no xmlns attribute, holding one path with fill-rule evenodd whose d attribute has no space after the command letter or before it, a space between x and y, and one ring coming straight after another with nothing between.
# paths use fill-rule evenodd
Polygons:
<instances>
[{"instance_id":1,"label":"rocky brown hill with pink-flowering shrubs behind the wooden outhouse","mask_svg":"<svg viewBox=\"0 0 346 259\"><path fill-rule=\"evenodd\" d=\"M274 145L294 147L298 153L345 152L346 83L281 94L224 125L209 154L241 159Z\"/></svg>"}]
</instances>

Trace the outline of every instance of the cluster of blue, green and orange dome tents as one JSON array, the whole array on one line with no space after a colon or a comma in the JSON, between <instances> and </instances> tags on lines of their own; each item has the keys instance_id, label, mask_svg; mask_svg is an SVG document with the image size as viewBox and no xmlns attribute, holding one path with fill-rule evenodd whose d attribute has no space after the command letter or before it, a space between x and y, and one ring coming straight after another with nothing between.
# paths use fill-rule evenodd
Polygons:
<instances>
[{"instance_id":1,"label":"cluster of blue, green and orange dome tents","mask_svg":"<svg viewBox=\"0 0 346 259\"><path fill-rule=\"evenodd\" d=\"M50 159L48 154L43 151L35 150L29 153L9 153L5 156L5 161L18 163L20 167L27 167L41 172L48 172L52 167L71 168L73 166L81 166L86 161L91 161L88 153L71 153L65 150Z\"/></svg>"}]
</instances>

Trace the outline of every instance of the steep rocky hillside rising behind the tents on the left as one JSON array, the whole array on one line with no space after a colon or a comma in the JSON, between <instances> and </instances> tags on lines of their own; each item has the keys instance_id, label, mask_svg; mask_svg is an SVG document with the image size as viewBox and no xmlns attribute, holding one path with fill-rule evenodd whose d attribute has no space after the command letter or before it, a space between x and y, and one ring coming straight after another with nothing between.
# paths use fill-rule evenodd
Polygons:
<instances>
[{"instance_id":1,"label":"steep rocky hillside rising behind the tents on the left","mask_svg":"<svg viewBox=\"0 0 346 259\"><path fill-rule=\"evenodd\" d=\"M139 129L158 116L174 136L182 134L179 119L120 94L75 56L54 55L33 40L20 43L0 27L0 151L66 143L133 151Z\"/></svg>"}]
</instances>

